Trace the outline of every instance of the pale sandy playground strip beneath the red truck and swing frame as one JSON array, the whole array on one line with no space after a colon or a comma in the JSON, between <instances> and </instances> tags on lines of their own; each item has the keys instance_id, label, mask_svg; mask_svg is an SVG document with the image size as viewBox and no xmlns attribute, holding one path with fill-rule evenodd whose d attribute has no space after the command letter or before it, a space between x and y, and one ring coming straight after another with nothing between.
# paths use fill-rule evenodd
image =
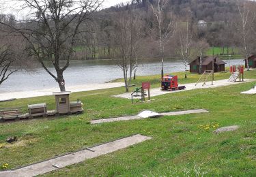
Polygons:
<instances>
[{"instance_id":1,"label":"pale sandy playground strip beneath the red truck and swing frame","mask_svg":"<svg viewBox=\"0 0 256 177\"><path fill-rule=\"evenodd\" d=\"M195 86L195 83L190 83L190 84L180 84L186 86L185 90L181 91L162 91L160 88L152 88L150 89L150 96L158 96L158 95L164 95L167 93L177 93L177 92L182 92L182 91L190 91L198 88L216 88L219 86L228 86L228 85L233 85L233 84L242 84L245 82L253 82L255 81L254 79L246 79L244 82L229 82L227 79L226 80L216 80L214 81L214 84L212 85L212 82L206 82L206 85L202 86L203 83L197 84ZM119 95L113 95L113 97L121 97L121 98L127 98L127 99L132 99L132 96L130 95L131 93L123 93ZM137 97L140 98L140 97ZM136 99L136 97L134 97Z\"/></svg>"}]
</instances>

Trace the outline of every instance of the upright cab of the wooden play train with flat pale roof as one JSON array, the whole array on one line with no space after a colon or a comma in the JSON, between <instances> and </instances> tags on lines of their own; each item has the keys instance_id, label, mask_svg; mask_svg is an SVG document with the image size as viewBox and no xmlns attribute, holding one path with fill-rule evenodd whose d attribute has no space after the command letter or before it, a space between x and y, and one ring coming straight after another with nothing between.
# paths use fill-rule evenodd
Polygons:
<instances>
[{"instance_id":1,"label":"upright cab of the wooden play train with flat pale roof","mask_svg":"<svg viewBox=\"0 0 256 177\"><path fill-rule=\"evenodd\" d=\"M56 110L59 114L70 112L70 93L71 92L54 92Z\"/></svg>"}]
</instances>

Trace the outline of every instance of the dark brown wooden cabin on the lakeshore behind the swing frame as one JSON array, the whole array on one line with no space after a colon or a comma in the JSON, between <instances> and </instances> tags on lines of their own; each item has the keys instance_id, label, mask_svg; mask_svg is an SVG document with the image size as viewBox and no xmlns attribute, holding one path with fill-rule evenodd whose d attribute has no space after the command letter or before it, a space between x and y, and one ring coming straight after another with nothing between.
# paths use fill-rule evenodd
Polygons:
<instances>
[{"instance_id":1,"label":"dark brown wooden cabin on the lakeshore behind the swing frame","mask_svg":"<svg viewBox=\"0 0 256 177\"><path fill-rule=\"evenodd\" d=\"M212 61L214 61L214 69L212 68ZM202 70L201 73L205 70L214 70L214 72L225 71L225 63L218 57L202 57ZM199 66L200 66L200 57L197 57L195 60L189 63L190 65L190 73L198 73L199 74Z\"/></svg>"}]
</instances>

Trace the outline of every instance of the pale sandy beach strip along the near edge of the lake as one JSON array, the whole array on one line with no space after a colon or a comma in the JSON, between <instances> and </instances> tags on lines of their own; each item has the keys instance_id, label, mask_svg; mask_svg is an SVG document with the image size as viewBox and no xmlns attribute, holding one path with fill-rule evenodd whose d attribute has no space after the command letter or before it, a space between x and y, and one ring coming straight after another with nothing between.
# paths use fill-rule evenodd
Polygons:
<instances>
[{"instance_id":1,"label":"pale sandy beach strip along the near edge of the lake","mask_svg":"<svg viewBox=\"0 0 256 177\"><path fill-rule=\"evenodd\" d=\"M77 86L66 86L67 91L71 92L81 92L81 91L94 91L104 88L115 88L124 86L122 82L104 83L104 84L85 84ZM30 97L40 97L45 95L53 95L53 92L59 91L58 87L55 88L44 88L36 91L18 91L18 92L6 92L0 93L0 101L5 99L19 99L19 98L30 98Z\"/></svg>"}]
</instances>

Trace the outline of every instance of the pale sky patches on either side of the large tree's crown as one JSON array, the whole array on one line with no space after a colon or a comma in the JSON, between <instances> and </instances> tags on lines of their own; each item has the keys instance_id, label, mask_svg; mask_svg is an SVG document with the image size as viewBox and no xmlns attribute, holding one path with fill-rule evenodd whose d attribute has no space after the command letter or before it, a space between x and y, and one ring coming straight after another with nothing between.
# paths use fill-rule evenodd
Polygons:
<instances>
[{"instance_id":1,"label":"pale sky patches on either side of the large tree's crown","mask_svg":"<svg viewBox=\"0 0 256 177\"><path fill-rule=\"evenodd\" d=\"M130 0L104 0L102 8L127 2L130 2ZM16 18L20 15L25 16L26 12L18 12L19 6L20 4L17 0L0 0L0 14L14 14Z\"/></svg>"}]
</instances>

